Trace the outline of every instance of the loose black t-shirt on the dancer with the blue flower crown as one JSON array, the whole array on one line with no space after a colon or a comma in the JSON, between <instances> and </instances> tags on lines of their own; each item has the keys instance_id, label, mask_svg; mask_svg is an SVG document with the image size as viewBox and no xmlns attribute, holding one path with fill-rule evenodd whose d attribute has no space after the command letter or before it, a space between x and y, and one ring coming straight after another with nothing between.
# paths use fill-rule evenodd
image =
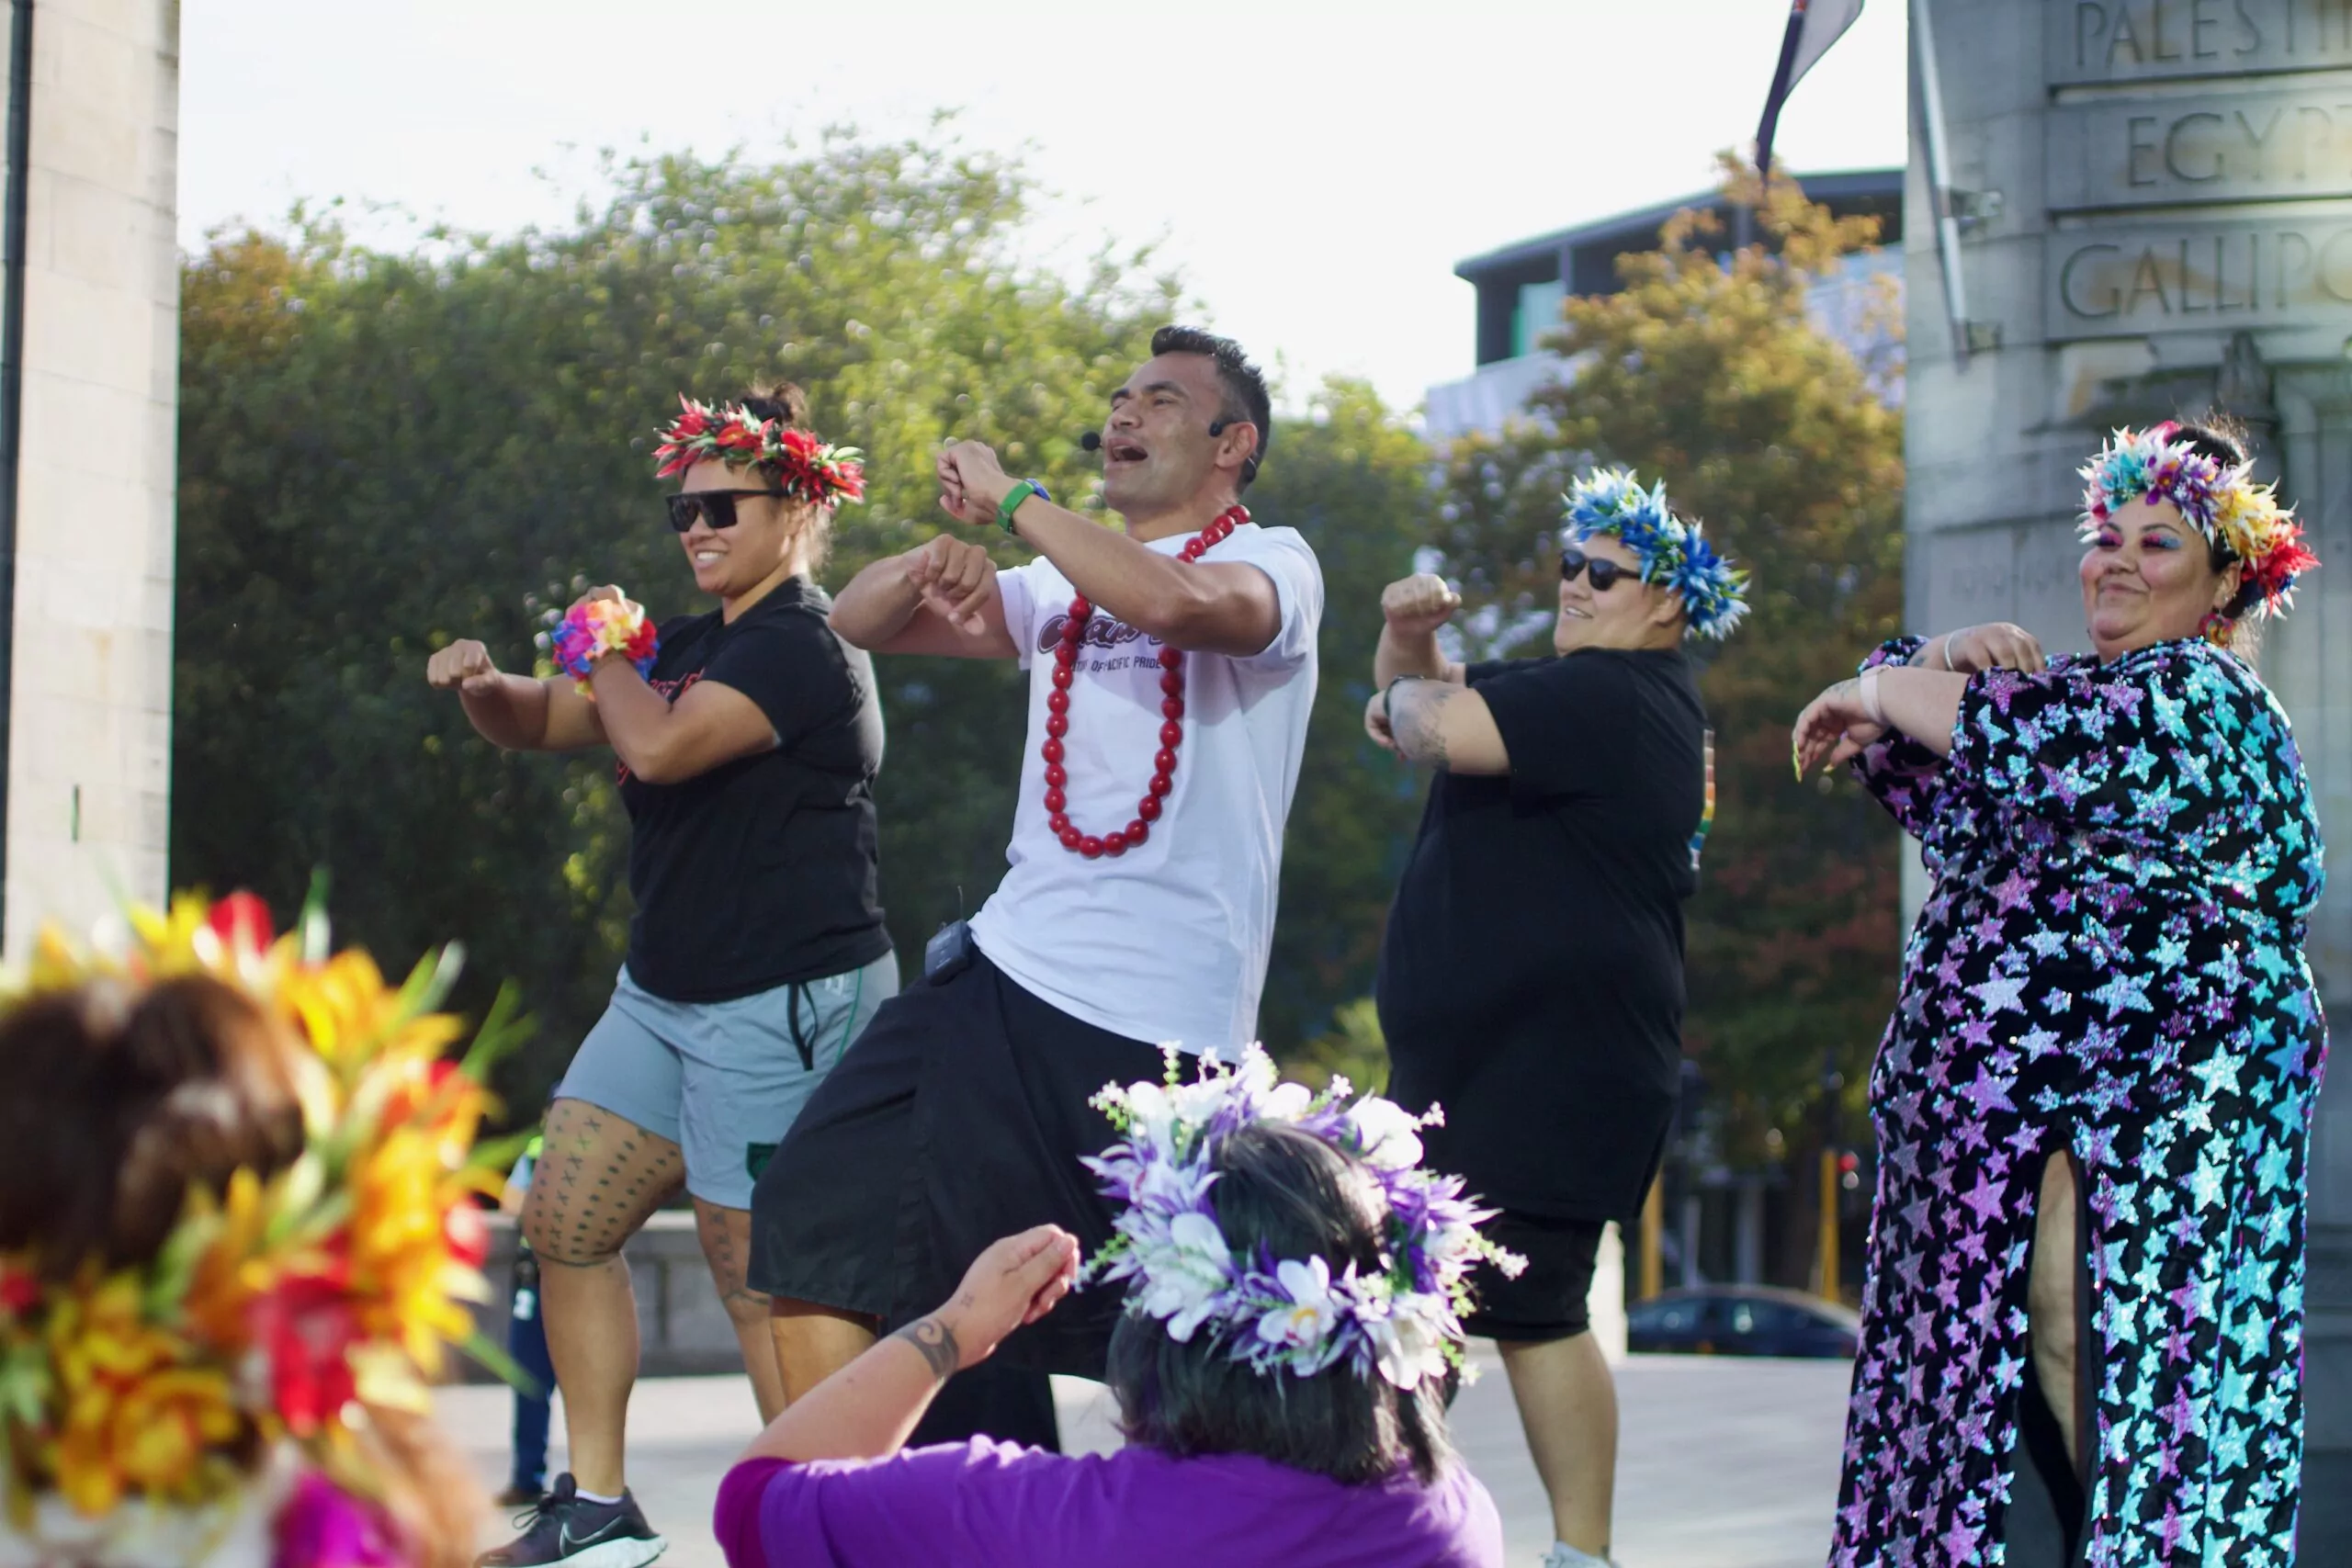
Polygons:
<instances>
[{"instance_id":1,"label":"loose black t-shirt on the dancer with the blue flower crown","mask_svg":"<svg viewBox=\"0 0 2352 1568\"><path fill-rule=\"evenodd\" d=\"M1432 1164L1534 1215L1635 1213L1682 1072L1708 722L1679 649L1468 670L1508 776L1439 773L1381 945L1390 1093Z\"/></svg>"}]
</instances>

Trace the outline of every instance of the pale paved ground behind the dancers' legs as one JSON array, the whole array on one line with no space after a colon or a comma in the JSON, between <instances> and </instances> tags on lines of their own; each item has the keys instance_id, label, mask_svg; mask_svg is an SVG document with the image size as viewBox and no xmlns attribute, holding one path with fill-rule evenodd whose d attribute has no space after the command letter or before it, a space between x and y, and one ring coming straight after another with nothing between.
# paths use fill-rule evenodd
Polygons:
<instances>
[{"instance_id":1,"label":"pale paved ground behind the dancers' legs","mask_svg":"<svg viewBox=\"0 0 2352 1568\"><path fill-rule=\"evenodd\" d=\"M1510 1387L1491 1354L1484 1366L1486 1375L1454 1408L1454 1436L1503 1509L1512 1568L1531 1568L1552 1540L1543 1488L1519 1439ZM1625 1568L1820 1568L1846 1375L1844 1361L1635 1356L1621 1366L1618 1561ZM1091 1382L1056 1382L1065 1443L1073 1450L1112 1446L1103 1392ZM492 1486L506 1479L506 1410L499 1387L442 1394L442 1422ZM630 1486L654 1528L670 1537L663 1568L720 1568L710 1500L755 1427L741 1378L637 1385ZM562 1469L560 1436L555 1467ZM494 1540L506 1540L503 1521L485 1521L485 1544Z\"/></svg>"}]
</instances>

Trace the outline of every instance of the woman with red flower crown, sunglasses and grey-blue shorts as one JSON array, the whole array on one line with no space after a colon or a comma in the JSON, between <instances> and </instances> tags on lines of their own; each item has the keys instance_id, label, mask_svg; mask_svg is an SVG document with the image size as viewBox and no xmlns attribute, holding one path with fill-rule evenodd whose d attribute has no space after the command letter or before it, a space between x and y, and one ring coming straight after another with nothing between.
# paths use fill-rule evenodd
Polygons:
<instances>
[{"instance_id":1,"label":"woman with red flower crown, sunglasses and grey-blue shorts","mask_svg":"<svg viewBox=\"0 0 2352 1568\"><path fill-rule=\"evenodd\" d=\"M635 1568L663 1549L623 1474L637 1307L621 1246L680 1187L760 1410L783 1408L769 1305L746 1284L753 1182L898 990L875 889L882 710L814 581L835 508L866 496L858 454L809 435L793 386L680 402L654 456L680 480L670 527L717 609L656 635L619 588L597 588L550 637L564 677L499 672L480 642L428 668L494 745L612 745L637 905L522 1208L572 1474L482 1559L492 1568Z\"/></svg>"}]
</instances>

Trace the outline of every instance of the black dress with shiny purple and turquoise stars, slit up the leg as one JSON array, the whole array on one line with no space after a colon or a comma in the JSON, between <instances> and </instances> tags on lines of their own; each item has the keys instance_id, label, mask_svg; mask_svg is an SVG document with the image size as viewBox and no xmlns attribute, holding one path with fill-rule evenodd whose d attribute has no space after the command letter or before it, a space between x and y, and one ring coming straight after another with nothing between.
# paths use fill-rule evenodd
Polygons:
<instances>
[{"instance_id":1,"label":"black dress with shiny purple and turquoise stars, slit up the leg","mask_svg":"<svg viewBox=\"0 0 2352 1568\"><path fill-rule=\"evenodd\" d=\"M1900 663L1893 642L1870 663ZM1950 759L1856 759L1933 875L1870 1074L1879 1187L1837 1568L2004 1561L2044 1159L2082 1166L2091 1568L2293 1561L2303 933L2319 823L2286 715L2161 642L1971 677Z\"/></svg>"}]
</instances>

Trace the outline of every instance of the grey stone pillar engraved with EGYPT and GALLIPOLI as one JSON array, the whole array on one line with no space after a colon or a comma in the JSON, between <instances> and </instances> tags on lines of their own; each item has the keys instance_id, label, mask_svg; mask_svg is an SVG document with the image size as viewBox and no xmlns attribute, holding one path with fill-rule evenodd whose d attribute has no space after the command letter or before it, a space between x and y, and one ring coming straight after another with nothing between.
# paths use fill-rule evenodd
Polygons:
<instances>
[{"instance_id":1,"label":"grey stone pillar engraved with EGYPT and GALLIPOLI","mask_svg":"<svg viewBox=\"0 0 2352 1568\"><path fill-rule=\"evenodd\" d=\"M2084 646L2074 468L2105 430L2211 404L2328 562L2263 649L2338 875L2310 938L2352 1016L2352 7L1917 0L1962 193L1955 331L1912 103L1905 195L1907 618ZM2312 1150L2305 1561L2352 1547L2352 1074Z\"/></svg>"}]
</instances>

